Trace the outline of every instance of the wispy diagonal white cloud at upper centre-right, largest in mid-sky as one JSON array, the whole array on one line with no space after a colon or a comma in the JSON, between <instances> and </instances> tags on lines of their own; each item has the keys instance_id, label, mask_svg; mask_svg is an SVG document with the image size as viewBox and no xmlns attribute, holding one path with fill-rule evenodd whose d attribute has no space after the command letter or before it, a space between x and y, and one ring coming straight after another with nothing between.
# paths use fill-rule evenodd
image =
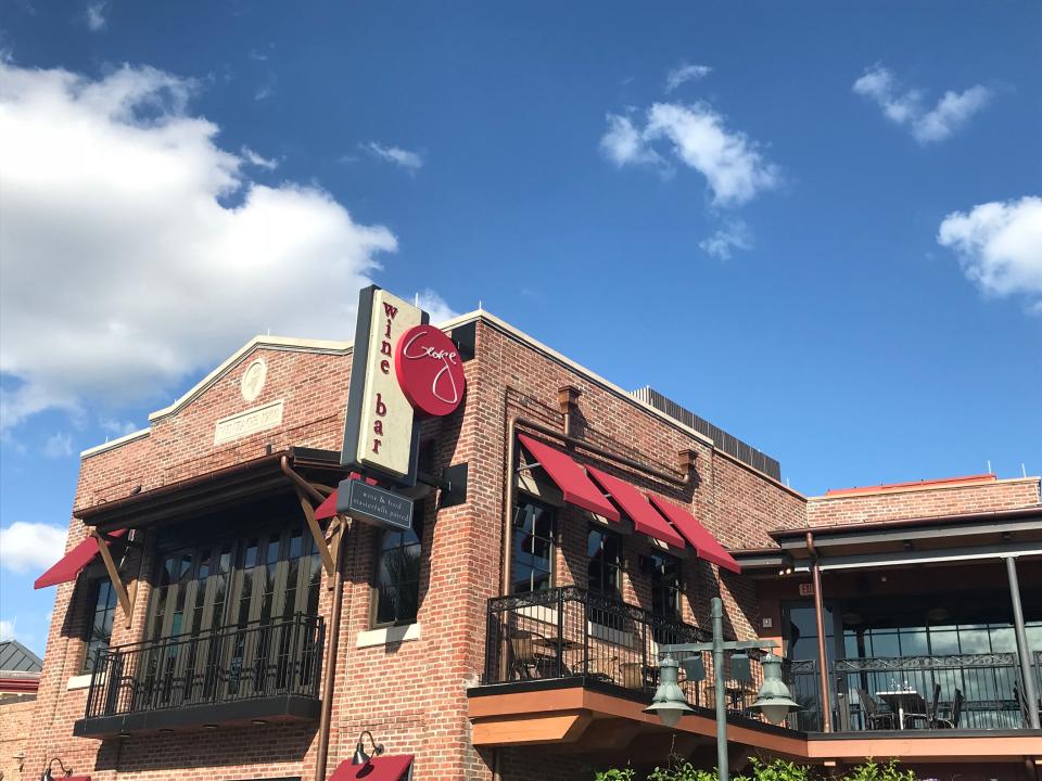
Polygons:
<instances>
[{"instance_id":1,"label":"wispy diagonal white cloud at upper centre-right, largest in mid-sky","mask_svg":"<svg viewBox=\"0 0 1042 781\"><path fill-rule=\"evenodd\" d=\"M615 165L662 159L651 144L664 141L673 156L706 177L715 206L740 206L777 187L780 175L755 142L728 130L724 118L706 103L656 103L638 129L627 117L608 116L601 149Z\"/></svg>"}]
</instances>

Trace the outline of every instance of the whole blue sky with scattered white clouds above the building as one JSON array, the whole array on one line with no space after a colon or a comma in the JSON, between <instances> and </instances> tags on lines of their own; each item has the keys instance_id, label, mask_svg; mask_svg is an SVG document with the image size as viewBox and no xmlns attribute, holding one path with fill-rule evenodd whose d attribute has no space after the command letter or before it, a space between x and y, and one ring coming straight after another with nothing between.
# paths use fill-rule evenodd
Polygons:
<instances>
[{"instance_id":1,"label":"whole blue sky with scattered white clouds above the building","mask_svg":"<svg viewBox=\"0 0 1042 781\"><path fill-rule=\"evenodd\" d=\"M350 337L367 280L806 494L1042 472L1040 17L0 2L0 630L42 650L80 450L255 333Z\"/></svg>"}]
</instances>

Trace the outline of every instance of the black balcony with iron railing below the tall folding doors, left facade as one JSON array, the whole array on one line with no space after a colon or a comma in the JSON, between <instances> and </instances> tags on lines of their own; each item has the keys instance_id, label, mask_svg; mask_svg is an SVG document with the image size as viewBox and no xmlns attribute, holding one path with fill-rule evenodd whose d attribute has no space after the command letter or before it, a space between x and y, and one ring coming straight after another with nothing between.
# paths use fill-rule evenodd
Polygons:
<instances>
[{"instance_id":1,"label":"black balcony with iron railing below the tall folding doors, left facade","mask_svg":"<svg viewBox=\"0 0 1042 781\"><path fill-rule=\"evenodd\" d=\"M318 718L325 627L317 616L99 651L84 738Z\"/></svg>"}]
</instances>

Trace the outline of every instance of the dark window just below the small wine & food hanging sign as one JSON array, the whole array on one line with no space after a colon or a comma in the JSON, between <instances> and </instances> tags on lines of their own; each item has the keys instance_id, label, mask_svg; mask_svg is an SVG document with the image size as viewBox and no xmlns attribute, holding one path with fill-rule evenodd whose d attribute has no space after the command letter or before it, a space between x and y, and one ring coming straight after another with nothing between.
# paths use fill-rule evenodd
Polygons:
<instances>
[{"instance_id":1,"label":"dark window just below the small wine & food hanging sign","mask_svg":"<svg viewBox=\"0 0 1042 781\"><path fill-rule=\"evenodd\" d=\"M373 625L412 624L420 607L420 552L423 505L412 510L408 532L386 529L380 536Z\"/></svg>"}]
</instances>

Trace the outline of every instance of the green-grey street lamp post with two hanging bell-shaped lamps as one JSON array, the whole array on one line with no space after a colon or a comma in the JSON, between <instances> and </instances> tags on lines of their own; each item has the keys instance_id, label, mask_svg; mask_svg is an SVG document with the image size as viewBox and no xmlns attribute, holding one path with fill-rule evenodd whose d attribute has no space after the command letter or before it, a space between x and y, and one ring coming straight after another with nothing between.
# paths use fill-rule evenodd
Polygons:
<instances>
[{"instance_id":1,"label":"green-grey street lamp post with two hanging bell-shaped lamps","mask_svg":"<svg viewBox=\"0 0 1042 781\"><path fill-rule=\"evenodd\" d=\"M777 643L773 640L724 640L724 603L720 597L713 597L711 602L713 618L713 640L708 643L679 643L660 645L659 653L662 661L659 663L659 687L655 692L651 704L645 713L656 714L666 727L675 726L685 713L694 709L684 699L684 692L677 684L677 663L673 654L701 654L710 651L713 654L713 689L716 699L716 772L720 781L728 781L727 767L727 703L724 691L724 652L746 651L751 649L773 649ZM700 660L700 656L698 657ZM770 721L780 722L789 710L799 706L789 696L789 690L782 680L782 661L774 654L767 654L763 660L763 686L757 695L757 701L750 706L761 710Z\"/></svg>"}]
</instances>

